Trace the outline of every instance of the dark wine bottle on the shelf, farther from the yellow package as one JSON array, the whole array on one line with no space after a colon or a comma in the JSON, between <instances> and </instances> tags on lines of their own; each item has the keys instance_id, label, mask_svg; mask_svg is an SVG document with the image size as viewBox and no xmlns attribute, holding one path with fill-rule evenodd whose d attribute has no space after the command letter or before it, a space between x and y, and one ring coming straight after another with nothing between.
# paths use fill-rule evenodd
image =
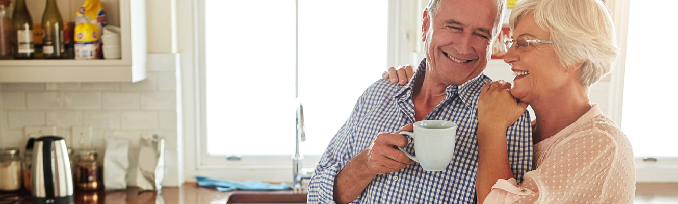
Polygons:
<instances>
[{"instance_id":1,"label":"dark wine bottle on the shelf, farther from the yellow package","mask_svg":"<svg viewBox=\"0 0 678 204\"><path fill-rule=\"evenodd\" d=\"M14 59L35 58L33 45L33 20L26 7L26 0L16 0L12 14L12 52Z\"/></svg>"}]
</instances>

